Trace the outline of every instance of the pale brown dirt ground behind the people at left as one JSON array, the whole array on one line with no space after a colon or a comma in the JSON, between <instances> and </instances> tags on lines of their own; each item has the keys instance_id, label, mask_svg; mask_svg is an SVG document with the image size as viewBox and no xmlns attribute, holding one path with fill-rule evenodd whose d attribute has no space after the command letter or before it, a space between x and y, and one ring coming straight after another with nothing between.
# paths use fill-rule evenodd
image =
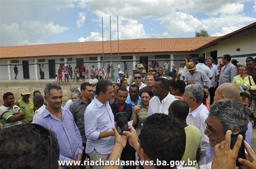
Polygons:
<instances>
[{"instance_id":1,"label":"pale brown dirt ground behind the people at left","mask_svg":"<svg viewBox=\"0 0 256 169\"><path fill-rule=\"evenodd\" d=\"M0 82L0 105L3 104L3 95L4 93L10 91L15 95L15 100L19 100L21 98L21 93L25 89L29 89L31 92L30 98L33 98L33 91L39 90L41 91L41 94L44 96L44 87L47 83L50 83L52 81L33 81L33 80L27 80L27 81L6 81L6 82ZM70 99L71 92L69 90L69 87L71 85L80 86L82 82L76 83L76 82L69 82L69 83L61 83L60 86L62 87L63 92L63 103L62 106L64 107L66 101Z\"/></svg>"}]
</instances>

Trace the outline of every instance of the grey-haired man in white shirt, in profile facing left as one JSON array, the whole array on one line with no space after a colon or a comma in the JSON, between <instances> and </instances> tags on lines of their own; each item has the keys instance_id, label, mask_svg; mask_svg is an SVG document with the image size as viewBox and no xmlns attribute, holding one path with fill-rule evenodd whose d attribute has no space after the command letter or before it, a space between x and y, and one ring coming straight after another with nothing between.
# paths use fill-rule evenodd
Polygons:
<instances>
[{"instance_id":1,"label":"grey-haired man in white shirt, in profile facing left","mask_svg":"<svg viewBox=\"0 0 256 169\"><path fill-rule=\"evenodd\" d=\"M202 136L201 156L199 166L206 164L206 149L209 144L208 137L204 134L206 126L205 120L209 111L203 104L204 89L199 85L188 85L185 87L184 100L190 105L190 112L187 115L188 125L196 126Z\"/></svg>"}]
</instances>

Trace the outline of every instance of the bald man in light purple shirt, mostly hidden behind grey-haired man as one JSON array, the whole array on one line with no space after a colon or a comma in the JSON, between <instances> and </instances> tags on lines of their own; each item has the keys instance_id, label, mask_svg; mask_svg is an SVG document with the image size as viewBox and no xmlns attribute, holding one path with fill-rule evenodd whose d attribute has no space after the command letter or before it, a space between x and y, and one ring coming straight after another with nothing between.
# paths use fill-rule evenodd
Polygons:
<instances>
[{"instance_id":1,"label":"bald man in light purple shirt, mostly hidden behind grey-haired man","mask_svg":"<svg viewBox=\"0 0 256 169\"><path fill-rule=\"evenodd\" d=\"M241 92L240 89L238 88L238 86L234 85L234 83L223 83L215 91L214 102L218 100L223 100L226 98L230 98L238 102L240 97L240 92ZM245 133L246 135L245 140L248 144L251 144L252 123L249 122L247 127L248 129ZM209 163L210 161L212 161L213 152L214 152L214 147L211 147L209 145L206 150L206 163Z\"/></svg>"}]
</instances>

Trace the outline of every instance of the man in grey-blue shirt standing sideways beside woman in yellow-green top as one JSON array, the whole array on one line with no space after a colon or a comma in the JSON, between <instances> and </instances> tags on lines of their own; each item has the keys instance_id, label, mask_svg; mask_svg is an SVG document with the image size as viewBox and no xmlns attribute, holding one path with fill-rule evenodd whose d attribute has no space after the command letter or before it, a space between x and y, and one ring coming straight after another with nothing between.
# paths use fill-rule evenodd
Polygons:
<instances>
[{"instance_id":1,"label":"man in grey-blue shirt standing sideways beside woman in yellow-green top","mask_svg":"<svg viewBox=\"0 0 256 169\"><path fill-rule=\"evenodd\" d=\"M237 75L237 67L235 67L231 61L231 55L225 54L223 55L223 64L225 65L222 68L219 79L219 86L223 83L232 83L234 76Z\"/></svg>"}]
</instances>

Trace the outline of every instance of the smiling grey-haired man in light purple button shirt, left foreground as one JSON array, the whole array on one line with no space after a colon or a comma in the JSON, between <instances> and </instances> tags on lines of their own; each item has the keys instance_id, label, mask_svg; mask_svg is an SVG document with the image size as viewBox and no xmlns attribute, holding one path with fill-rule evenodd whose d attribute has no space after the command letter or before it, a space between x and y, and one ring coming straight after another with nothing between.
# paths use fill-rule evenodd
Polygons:
<instances>
[{"instance_id":1,"label":"smiling grey-haired man in light purple button shirt, left foreground","mask_svg":"<svg viewBox=\"0 0 256 169\"><path fill-rule=\"evenodd\" d=\"M49 83L44 89L48 106L34 123L43 125L56 134L59 144L59 160L81 160L84 150L82 137L69 110L61 108L62 88Z\"/></svg>"}]
</instances>

